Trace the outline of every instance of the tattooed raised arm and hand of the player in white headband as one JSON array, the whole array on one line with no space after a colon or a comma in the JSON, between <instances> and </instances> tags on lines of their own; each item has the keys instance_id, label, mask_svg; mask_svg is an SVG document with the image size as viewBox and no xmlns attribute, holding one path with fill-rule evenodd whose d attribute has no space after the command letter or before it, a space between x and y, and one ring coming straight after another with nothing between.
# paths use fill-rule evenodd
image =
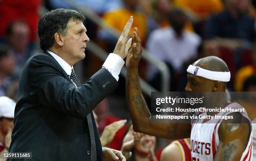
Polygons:
<instances>
[{"instance_id":1,"label":"tattooed raised arm and hand of the player in white headband","mask_svg":"<svg viewBox=\"0 0 256 161\"><path fill-rule=\"evenodd\" d=\"M138 76L138 63L141 59L141 53L141 40L138 36L137 28L134 28L132 46L126 58L126 102L133 121L134 130L162 138L189 138L190 124L152 123L151 113L141 93Z\"/></svg>"}]
</instances>

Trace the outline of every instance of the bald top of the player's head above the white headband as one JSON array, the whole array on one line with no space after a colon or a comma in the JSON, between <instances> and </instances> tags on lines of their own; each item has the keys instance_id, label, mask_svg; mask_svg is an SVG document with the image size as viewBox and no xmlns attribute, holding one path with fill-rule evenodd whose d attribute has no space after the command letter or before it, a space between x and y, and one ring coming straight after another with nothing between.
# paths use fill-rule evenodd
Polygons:
<instances>
[{"instance_id":1,"label":"bald top of the player's head above the white headband","mask_svg":"<svg viewBox=\"0 0 256 161\"><path fill-rule=\"evenodd\" d=\"M192 65L215 72L229 72L228 65L217 56L207 56L198 59Z\"/></svg>"}]
</instances>

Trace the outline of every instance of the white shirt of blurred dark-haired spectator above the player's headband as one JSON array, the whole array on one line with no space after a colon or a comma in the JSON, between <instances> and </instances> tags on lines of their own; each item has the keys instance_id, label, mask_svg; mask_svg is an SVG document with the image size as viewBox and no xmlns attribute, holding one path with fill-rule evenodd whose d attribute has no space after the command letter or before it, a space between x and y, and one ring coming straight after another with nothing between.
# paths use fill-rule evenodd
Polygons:
<instances>
[{"instance_id":1,"label":"white shirt of blurred dark-haired spectator above the player's headband","mask_svg":"<svg viewBox=\"0 0 256 161\"><path fill-rule=\"evenodd\" d=\"M147 49L150 54L160 61L172 64L176 71L180 71L184 61L197 55L197 47L201 38L196 33L183 31L182 36L177 38L172 27L154 30L148 37ZM150 79L157 72L154 66L148 70Z\"/></svg>"}]
</instances>

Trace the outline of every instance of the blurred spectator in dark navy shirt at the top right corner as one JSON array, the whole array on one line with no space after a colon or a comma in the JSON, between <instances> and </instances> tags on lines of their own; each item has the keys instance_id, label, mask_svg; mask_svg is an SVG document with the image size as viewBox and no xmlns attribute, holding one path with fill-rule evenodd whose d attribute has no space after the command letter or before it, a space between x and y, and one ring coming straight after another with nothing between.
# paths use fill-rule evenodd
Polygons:
<instances>
[{"instance_id":1,"label":"blurred spectator in dark navy shirt at the top right corner","mask_svg":"<svg viewBox=\"0 0 256 161\"><path fill-rule=\"evenodd\" d=\"M248 14L249 5L250 0L225 0L225 9L207 20L205 38L219 37L219 41L233 43L254 41L254 18Z\"/></svg>"}]
</instances>

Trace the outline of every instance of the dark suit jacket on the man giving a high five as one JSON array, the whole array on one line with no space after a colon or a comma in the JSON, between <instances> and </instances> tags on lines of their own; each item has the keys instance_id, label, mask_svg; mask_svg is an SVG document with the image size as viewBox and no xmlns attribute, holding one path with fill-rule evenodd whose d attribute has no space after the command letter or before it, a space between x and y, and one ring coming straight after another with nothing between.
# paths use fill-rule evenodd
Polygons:
<instances>
[{"instance_id":1,"label":"dark suit jacket on the man giving a high five","mask_svg":"<svg viewBox=\"0 0 256 161\"><path fill-rule=\"evenodd\" d=\"M106 69L100 69L76 88L49 53L31 57L20 76L10 152L32 152L28 161L90 161L86 115L117 85ZM92 121L101 161L100 138Z\"/></svg>"}]
</instances>

